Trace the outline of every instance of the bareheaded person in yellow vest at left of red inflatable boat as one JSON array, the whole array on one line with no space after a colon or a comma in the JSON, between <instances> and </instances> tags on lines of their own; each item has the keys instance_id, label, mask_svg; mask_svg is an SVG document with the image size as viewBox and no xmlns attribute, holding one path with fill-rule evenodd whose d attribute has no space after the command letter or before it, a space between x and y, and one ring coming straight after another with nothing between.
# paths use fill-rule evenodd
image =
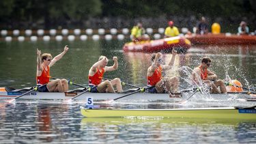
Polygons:
<instances>
[{"instance_id":1,"label":"bareheaded person in yellow vest at left of red inflatable boat","mask_svg":"<svg viewBox=\"0 0 256 144\"><path fill-rule=\"evenodd\" d=\"M149 40L149 38L145 37L144 33L145 33L145 29L142 27L142 23L137 23L137 26L132 27L132 30L131 30L132 42Z\"/></svg>"}]
</instances>

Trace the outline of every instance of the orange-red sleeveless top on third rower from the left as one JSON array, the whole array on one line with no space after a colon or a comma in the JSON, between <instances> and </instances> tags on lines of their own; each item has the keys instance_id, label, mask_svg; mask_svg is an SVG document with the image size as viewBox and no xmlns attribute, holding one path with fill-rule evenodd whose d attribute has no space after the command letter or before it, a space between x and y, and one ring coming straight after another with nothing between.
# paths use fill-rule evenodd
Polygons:
<instances>
[{"instance_id":1,"label":"orange-red sleeveless top on third rower from the left","mask_svg":"<svg viewBox=\"0 0 256 144\"><path fill-rule=\"evenodd\" d=\"M152 76L147 76L147 86L154 86L162 79L162 67L158 66Z\"/></svg>"}]
</instances>

